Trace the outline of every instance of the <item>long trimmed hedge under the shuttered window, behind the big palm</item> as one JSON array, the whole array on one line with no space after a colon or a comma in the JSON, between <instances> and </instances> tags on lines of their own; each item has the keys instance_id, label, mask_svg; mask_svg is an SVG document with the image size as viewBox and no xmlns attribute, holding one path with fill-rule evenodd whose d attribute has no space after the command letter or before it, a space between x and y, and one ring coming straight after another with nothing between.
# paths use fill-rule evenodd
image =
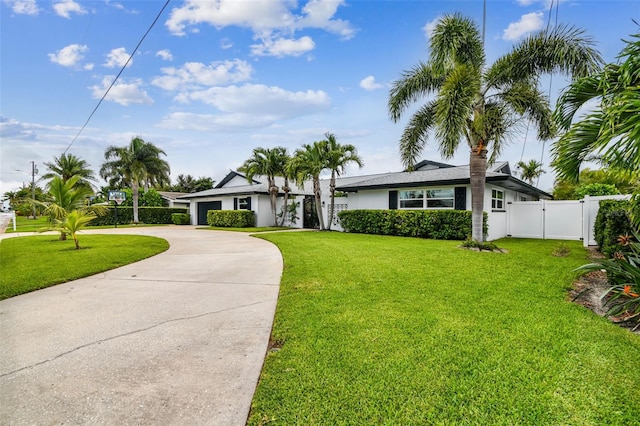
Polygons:
<instances>
[{"instance_id":1,"label":"long trimmed hedge under the shuttered window, behind the big palm","mask_svg":"<svg viewBox=\"0 0 640 426\"><path fill-rule=\"evenodd\" d=\"M346 232L436 240L471 237L471 212L467 210L344 210L338 217ZM483 228L486 235L486 213Z\"/></svg>"}]
</instances>

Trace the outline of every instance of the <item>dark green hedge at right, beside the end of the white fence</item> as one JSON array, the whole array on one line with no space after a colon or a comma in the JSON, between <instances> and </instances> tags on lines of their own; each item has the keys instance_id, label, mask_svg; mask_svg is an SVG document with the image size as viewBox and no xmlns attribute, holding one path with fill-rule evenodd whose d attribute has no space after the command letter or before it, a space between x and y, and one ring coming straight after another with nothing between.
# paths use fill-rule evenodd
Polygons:
<instances>
[{"instance_id":1,"label":"dark green hedge at right, beside the end of the white fence","mask_svg":"<svg viewBox=\"0 0 640 426\"><path fill-rule=\"evenodd\" d=\"M600 251L608 257L624 250L618 243L621 235L631 235L632 227L628 210L629 200L601 200L600 209L593 224L593 233Z\"/></svg>"}]
</instances>

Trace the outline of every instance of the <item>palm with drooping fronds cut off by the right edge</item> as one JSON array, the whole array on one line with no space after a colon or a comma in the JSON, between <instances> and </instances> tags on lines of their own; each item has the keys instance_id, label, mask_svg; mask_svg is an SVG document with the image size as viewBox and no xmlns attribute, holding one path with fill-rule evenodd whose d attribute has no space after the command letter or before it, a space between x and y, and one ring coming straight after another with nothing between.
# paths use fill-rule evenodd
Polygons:
<instances>
[{"instance_id":1,"label":"palm with drooping fronds cut off by the right edge","mask_svg":"<svg viewBox=\"0 0 640 426\"><path fill-rule=\"evenodd\" d=\"M640 178L640 34L631 37L617 63L574 81L558 100L554 118L566 132L553 145L552 165L560 179L576 181L592 156L621 175ZM594 100L597 107L574 122L578 110ZM634 205L640 227L638 187Z\"/></svg>"}]
</instances>

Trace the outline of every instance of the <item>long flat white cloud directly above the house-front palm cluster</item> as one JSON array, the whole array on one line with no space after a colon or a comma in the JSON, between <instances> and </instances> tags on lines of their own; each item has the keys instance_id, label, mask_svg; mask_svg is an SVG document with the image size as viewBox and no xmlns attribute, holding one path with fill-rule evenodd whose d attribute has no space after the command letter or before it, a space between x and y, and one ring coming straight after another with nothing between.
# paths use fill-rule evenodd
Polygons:
<instances>
[{"instance_id":1,"label":"long flat white cloud directly above the house-front palm cluster","mask_svg":"<svg viewBox=\"0 0 640 426\"><path fill-rule=\"evenodd\" d=\"M211 87L206 90L181 93L180 102L199 101L230 114L289 118L325 110L331 99L322 90L290 92L280 87L262 84Z\"/></svg>"}]
</instances>

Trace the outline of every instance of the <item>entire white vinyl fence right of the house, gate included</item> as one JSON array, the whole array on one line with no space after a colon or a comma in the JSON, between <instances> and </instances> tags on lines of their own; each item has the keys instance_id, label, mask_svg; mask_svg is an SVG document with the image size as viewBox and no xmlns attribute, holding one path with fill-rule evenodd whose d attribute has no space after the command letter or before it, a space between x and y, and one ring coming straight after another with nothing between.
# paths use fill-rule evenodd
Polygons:
<instances>
[{"instance_id":1,"label":"entire white vinyl fence right of the house, gate included","mask_svg":"<svg viewBox=\"0 0 640 426\"><path fill-rule=\"evenodd\" d=\"M554 240L581 240L596 245L593 224L600 200L622 200L628 195L586 196L584 200L541 200L507 203L507 236Z\"/></svg>"}]
</instances>

